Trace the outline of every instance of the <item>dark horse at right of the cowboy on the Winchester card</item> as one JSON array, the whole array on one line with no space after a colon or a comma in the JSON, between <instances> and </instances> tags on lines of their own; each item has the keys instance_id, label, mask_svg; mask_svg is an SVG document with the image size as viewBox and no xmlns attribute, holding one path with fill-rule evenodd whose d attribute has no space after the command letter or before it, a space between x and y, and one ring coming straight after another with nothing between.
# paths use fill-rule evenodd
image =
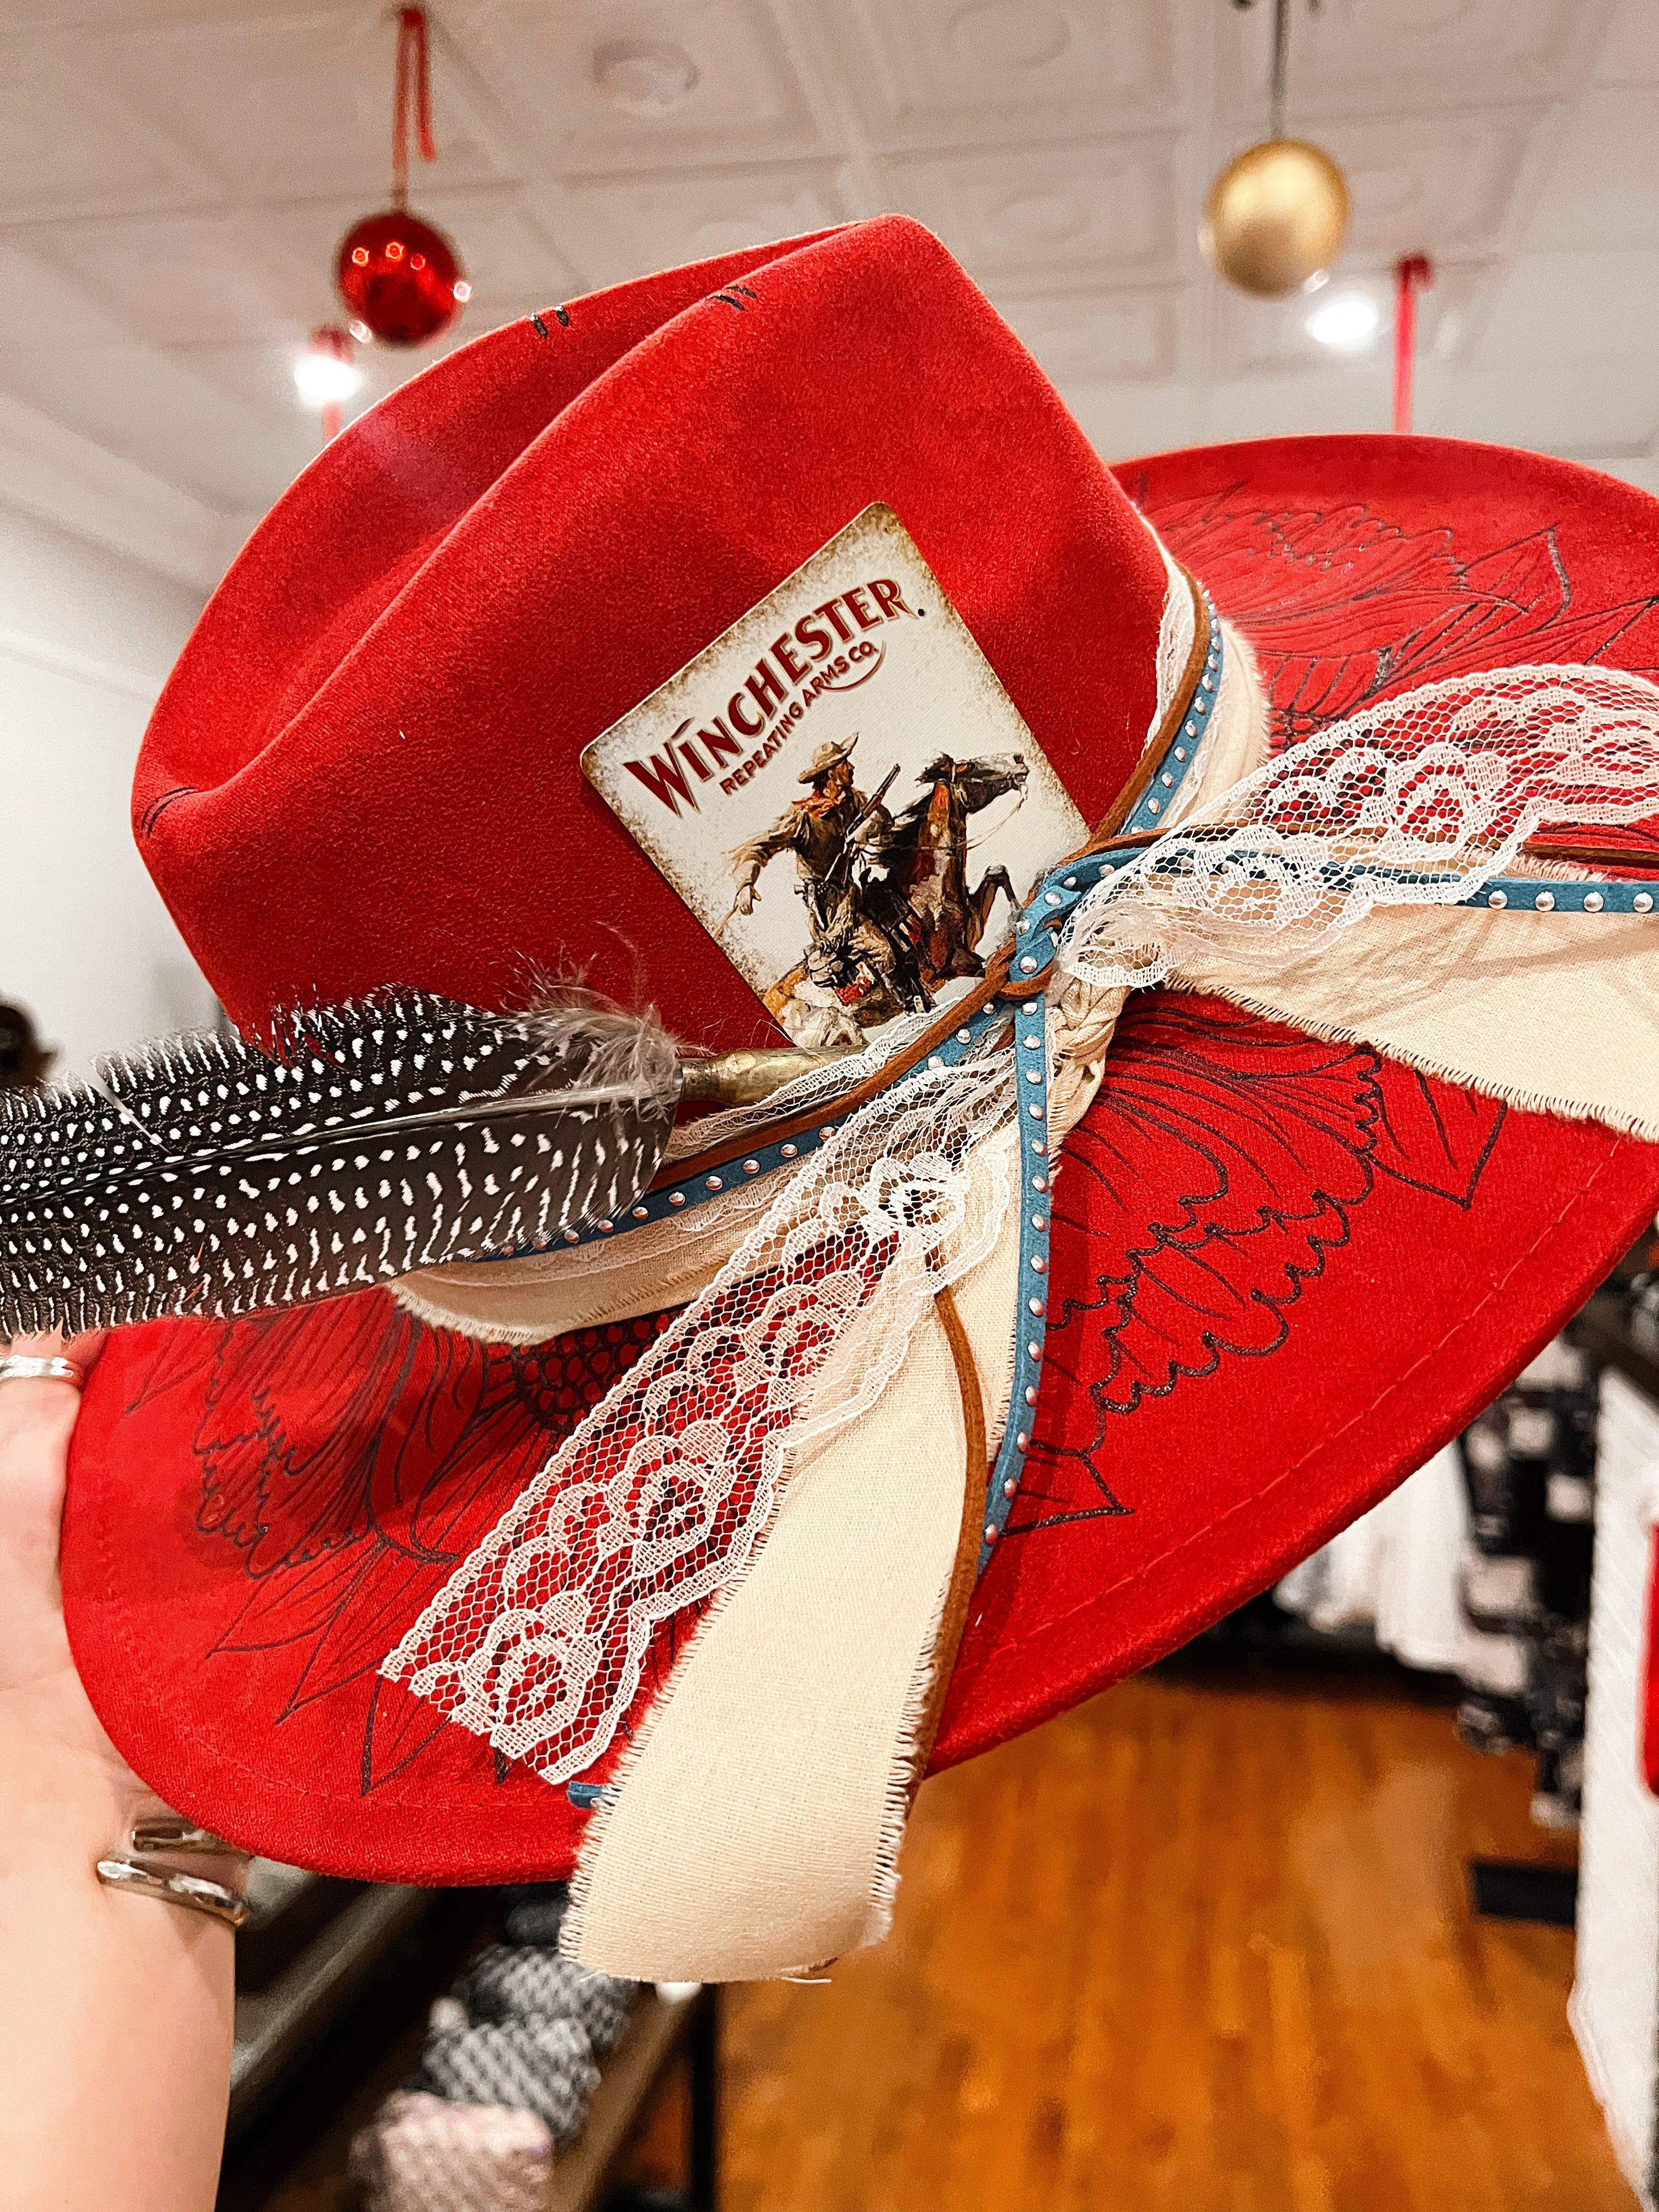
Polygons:
<instances>
[{"instance_id":1,"label":"dark horse at right of the cowboy on the Winchester card","mask_svg":"<svg viewBox=\"0 0 1659 2212\"><path fill-rule=\"evenodd\" d=\"M953 975L982 975L975 945L991 920L998 891L1020 911L1020 896L1006 867L987 867L969 889L969 836L971 814L980 814L993 799L1009 792L1024 792L1024 754L989 752L978 761L956 761L949 752L936 754L922 768L918 783L931 785L894 823L894 834L883 852L887 887L902 900L916 922L920 922L918 960L925 984L947 982Z\"/></svg>"}]
</instances>

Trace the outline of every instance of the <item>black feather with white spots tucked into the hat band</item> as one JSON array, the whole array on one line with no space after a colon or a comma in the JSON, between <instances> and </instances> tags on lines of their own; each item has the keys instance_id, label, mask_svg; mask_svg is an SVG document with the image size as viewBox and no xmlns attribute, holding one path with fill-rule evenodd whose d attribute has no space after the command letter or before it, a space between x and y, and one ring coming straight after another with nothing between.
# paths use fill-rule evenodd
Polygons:
<instances>
[{"instance_id":1,"label":"black feather with white spots tucked into the hat band","mask_svg":"<svg viewBox=\"0 0 1659 2212\"><path fill-rule=\"evenodd\" d=\"M679 1062L650 1018L405 993L0 1095L0 1338L296 1305L542 1250L657 1172Z\"/></svg>"}]
</instances>

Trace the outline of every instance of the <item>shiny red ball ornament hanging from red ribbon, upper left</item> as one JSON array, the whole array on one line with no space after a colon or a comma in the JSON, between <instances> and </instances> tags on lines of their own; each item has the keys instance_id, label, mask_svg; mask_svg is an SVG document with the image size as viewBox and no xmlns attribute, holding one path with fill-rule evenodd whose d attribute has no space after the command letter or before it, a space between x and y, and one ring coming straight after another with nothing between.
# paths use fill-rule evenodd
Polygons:
<instances>
[{"instance_id":1,"label":"shiny red ball ornament hanging from red ribbon, upper left","mask_svg":"<svg viewBox=\"0 0 1659 2212\"><path fill-rule=\"evenodd\" d=\"M334 281L354 327L383 345L425 345L460 314L471 285L460 257L434 223L409 215L409 117L420 159L431 161L431 62L427 13L398 9L398 62L392 100L392 206L367 215L341 239Z\"/></svg>"}]
</instances>

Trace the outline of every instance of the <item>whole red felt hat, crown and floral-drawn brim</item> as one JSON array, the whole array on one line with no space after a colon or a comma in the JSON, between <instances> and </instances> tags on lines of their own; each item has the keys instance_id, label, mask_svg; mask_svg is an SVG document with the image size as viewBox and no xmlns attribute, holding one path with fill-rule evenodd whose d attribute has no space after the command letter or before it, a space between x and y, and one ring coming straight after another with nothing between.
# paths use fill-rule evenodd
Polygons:
<instances>
[{"instance_id":1,"label":"whole red felt hat, crown and floral-drawn brim","mask_svg":"<svg viewBox=\"0 0 1659 2212\"><path fill-rule=\"evenodd\" d=\"M776 1040L580 754L872 502L1086 821L1159 699L1141 515L1254 646L1281 741L1464 670L1659 661L1639 491L1409 438L1108 471L914 223L728 257L429 369L226 577L135 827L234 1020L394 984L511 1006L580 962L701 1044ZM1376 1502L1659 1201L1650 1144L1172 991L1130 1002L1066 1159L1026 1475L936 1763L1170 1650ZM491 1347L369 1290L115 1334L64 1608L144 1778L341 1874L568 1871L586 1814L378 1666L666 1318ZM672 1652L670 1624L646 1690Z\"/></svg>"}]
</instances>

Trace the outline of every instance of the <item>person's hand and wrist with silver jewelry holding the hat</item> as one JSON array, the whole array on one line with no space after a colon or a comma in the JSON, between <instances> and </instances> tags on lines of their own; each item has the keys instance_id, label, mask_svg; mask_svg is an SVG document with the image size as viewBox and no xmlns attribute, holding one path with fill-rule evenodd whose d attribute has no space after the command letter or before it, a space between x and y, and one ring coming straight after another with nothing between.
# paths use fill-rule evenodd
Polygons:
<instances>
[{"instance_id":1,"label":"person's hand and wrist with silver jewelry holding the hat","mask_svg":"<svg viewBox=\"0 0 1659 2212\"><path fill-rule=\"evenodd\" d=\"M102 1336L20 1336L84 1371ZM210 2212L230 2095L234 1944L97 1878L166 1812L104 1734L64 1632L58 1531L73 1383L0 1383L0 2201ZM188 1863L234 1887L230 1860Z\"/></svg>"}]
</instances>

